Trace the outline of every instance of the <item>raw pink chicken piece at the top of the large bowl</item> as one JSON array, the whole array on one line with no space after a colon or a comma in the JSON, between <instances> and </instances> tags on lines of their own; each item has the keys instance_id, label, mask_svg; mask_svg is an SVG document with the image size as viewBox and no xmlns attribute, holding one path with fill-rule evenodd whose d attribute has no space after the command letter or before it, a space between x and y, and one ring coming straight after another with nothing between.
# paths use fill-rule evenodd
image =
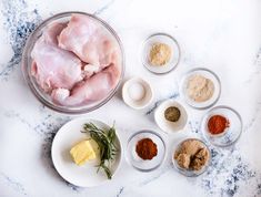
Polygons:
<instances>
[{"instance_id":1,"label":"raw pink chicken piece at the top of the large bowl","mask_svg":"<svg viewBox=\"0 0 261 197\"><path fill-rule=\"evenodd\" d=\"M99 71L110 65L114 53L119 53L119 45L110 32L83 14L72 14L58 41L60 48L72 51Z\"/></svg>"}]
</instances>

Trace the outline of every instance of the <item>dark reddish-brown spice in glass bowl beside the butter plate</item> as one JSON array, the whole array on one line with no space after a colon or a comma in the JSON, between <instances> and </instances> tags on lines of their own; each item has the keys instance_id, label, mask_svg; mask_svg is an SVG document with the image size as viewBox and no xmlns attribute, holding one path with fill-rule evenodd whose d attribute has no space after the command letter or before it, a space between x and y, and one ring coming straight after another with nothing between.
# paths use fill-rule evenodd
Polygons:
<instances>
[{"instance_id":1,"label":"dark reddish-brown spice in glass bowl beside the butter plate","mask_svg":"<svg viewBox=\"0 0 261 197\"><path fill-rule=\"evenodd\" d=\"M142 138L135 145L135 153L144 160L151 160L158 154L157 144L151 138Z\"/></svg>"}]
</instances>

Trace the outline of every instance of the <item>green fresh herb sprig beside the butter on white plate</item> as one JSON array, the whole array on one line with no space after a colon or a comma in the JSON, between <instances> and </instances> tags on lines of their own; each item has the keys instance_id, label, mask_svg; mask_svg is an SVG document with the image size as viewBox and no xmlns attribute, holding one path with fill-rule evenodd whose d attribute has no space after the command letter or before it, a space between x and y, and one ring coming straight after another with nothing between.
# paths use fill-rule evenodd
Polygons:
<instances>
[{"instance_id":1,"label":"green fresh herb sprig beside the butter on white plate","mask_svg":"<svg viewBox=\"0 0 261 197\"><path fill-rule=\"evenodd\" d=\"M100 164L98 170L102 168L109 179L112 177L110 170L110 164L114 159L117 154L116 141L116 128L114 124L108 131L97 127L93 123L87 123L83 126L82 133L90 133L90 137L96 141L100 149Z\"/></svg>"}]
</instances>

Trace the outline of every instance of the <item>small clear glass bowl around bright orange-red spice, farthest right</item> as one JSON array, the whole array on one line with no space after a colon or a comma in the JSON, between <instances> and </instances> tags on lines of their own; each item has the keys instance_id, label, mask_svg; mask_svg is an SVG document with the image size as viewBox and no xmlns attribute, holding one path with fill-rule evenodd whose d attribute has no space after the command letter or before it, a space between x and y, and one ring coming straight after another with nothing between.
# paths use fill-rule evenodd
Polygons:
<instances>
[{"instance_id":1,"label":"small clear glass bowl around bright orange-red spice, farthest right","mask_svg":"<svg viewBox=\"0 0 261 197\"><path fill-rule=\"evenodd\" d=\"M222 115L229 120L230 126L225 128L222 135L212 135L209 133L208 122L213 115ZM242 127L243 123L240 114L229 106L215 106L211 108L207 112L201 122L201 131L204 138L211 144L221 147L233 145L240 138Z\"/></svg>"}]
</instances>

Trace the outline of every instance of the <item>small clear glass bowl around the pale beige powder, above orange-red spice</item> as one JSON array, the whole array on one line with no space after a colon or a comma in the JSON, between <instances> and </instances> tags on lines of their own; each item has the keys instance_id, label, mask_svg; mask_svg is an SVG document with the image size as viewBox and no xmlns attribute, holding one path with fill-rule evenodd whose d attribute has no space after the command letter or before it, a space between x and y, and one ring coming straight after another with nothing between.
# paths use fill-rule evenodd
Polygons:
<instances>
[{"instance_id":1,"label":"small clear glass bowl around the pale beige powder, above orange-red spice","mask_svg":"<svg viewBox=\"0 0 261 197\"><path fill-rule=\"evenodd\" d=\"M212 97L210 97L208 101L204 102L194 102L193 100L191 100L188 95L187 95L187 84L188 84L188 80L190 79L190 76L194 75L194 74L200 74L209 80L211 80L214 84L214 93L212 95ZM181 91L182 93L182 97L184 98L184 101L187 102L187 104L189 104L191 107L193 108L198 108L198 110L205 110L209 108L211 106L213 106L218 100L220 98L220 94L221 94L221 82L219 76L204 68L197 68L197 69L192 69L189 72L187 72L184 74L184 76L181 80Z\"/></svg>"}]
</instances>

